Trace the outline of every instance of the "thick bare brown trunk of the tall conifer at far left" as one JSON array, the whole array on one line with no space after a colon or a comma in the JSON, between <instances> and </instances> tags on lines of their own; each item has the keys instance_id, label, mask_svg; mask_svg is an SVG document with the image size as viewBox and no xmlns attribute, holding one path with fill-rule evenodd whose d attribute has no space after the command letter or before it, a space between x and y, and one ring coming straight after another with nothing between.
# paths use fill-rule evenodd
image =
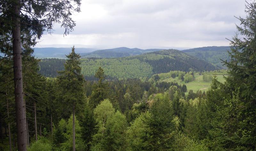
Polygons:
<instances>
[{"instance_id":1,"label":"thick bare brown trunk of the tall conifer at far left","mask_svg":"<svg viewBox=\"0 0 256 151\"><path fill-rule=\"evenodd\" d=\"M26 151L26 119L24 116L23 102L23 80L21 63L21 42L20 42L20 0L13 3L14 15L12 21L12 47L13 47L13 73L14 73L14 94L15 94L15 112L17 124L17 143L19 151Z\"/></svg>"}]
</instances>

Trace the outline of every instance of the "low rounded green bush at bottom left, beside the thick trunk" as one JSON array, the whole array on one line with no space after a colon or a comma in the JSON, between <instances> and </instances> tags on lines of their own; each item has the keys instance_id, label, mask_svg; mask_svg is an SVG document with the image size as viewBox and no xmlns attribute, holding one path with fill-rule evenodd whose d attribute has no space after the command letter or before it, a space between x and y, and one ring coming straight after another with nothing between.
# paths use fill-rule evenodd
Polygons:
<instances>
[{"instance_id":1,"label":"low rounded green bush at bottom left, beside the thick trunk","mask_svg":"<svg viewBox=\"0 0 256 151\"><path fill-rule=\"evenodd\" d=\"M31 147L28 147L28 151L51 151L51 142L46 138L40 138L39 140L32 143Z\"/></svg>"}]
</instances>

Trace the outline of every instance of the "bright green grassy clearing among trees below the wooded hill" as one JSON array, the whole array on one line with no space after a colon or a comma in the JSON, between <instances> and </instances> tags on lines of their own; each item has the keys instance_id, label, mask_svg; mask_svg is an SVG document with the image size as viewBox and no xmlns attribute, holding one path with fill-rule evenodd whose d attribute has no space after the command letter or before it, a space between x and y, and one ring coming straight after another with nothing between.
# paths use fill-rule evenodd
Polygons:
<instances>
[{"instance_id":1,"label":"bright green grassy clearing among trees below the wooded hill","mask_svg":"<svg viewBox=\"0 0 256 151\"><path fill-rule=\"evenodd\" d=\"M217 76L217 80L221 83L225 82L225 79L222 75L218 75ZM178 84L185 84L187 86L188 91L189 90L193 90L193 92L196 92L197 90L201 90L201 91L207 91L208 88L211 86L212 82L204 82L203 80L203 75L195 75L195 80L189 83L185 83L184 81L181 81L178 79L178 77L176 78L166 78L164 80L162 80L164 82L177 82ZM188 92L186 92L187 94Z\"/></svg>"}]
</instances>

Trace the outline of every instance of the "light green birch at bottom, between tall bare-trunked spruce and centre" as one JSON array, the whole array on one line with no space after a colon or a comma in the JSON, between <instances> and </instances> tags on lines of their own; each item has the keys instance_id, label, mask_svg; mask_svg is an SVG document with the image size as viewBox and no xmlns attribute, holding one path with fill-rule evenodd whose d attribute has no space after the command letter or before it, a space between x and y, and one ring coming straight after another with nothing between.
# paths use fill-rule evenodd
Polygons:
<instances>
[{"instance_id":1,"label":"light green birch at bottom, between tall bare-trunked spruce and centre","mask_svg":"<svg viewBox=\"0 0 256 151\"><path fill-rule=\"evenodd\" d=\"M95 109L98 132L92 137L91 150L124 150L126 118L104 99Z\"/></svg>"}]
</instances>

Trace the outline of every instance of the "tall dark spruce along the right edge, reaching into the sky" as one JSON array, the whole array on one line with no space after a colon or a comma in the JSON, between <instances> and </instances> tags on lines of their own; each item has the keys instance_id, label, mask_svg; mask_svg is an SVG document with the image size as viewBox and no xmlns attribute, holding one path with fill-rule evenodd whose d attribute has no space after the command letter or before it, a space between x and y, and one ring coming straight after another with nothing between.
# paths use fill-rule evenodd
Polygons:
<instances>
[{"instance_id":1,"label":"tall dark spruce along the right edge, reaching into the sky","mask_svg":"<svg viewBox=\"0 0 256 151\"><path fill-rule=\"evenodd\" d=\"M236 115L239 115L239 130L231 129L227 133L231 136L238 135L232 142L236 146L243 146L248 150L256 149L256 2L246 2L245 18L237 17L240 25L236 25L238 32L230 40L231 50L229 51L230 61L223 61L228 67L226 78L226 91L232 95L239 108ZM239 88L239 89L238 89ZM239 106L240 105L240 106ZM241 105L243 105L241 107ZM224 109L230 110L233 106ZM228 111L227 111L228 112ZM234 117L234 116L233 116ZM240 119L241 118L241 119ZM223 119L225 120L225 118ZM227 121L228 122L228 121ZM234 125L235 126L235 125ZM233 130L233 131L232 131ZM232 145L231 145L232 146ZM233 148L233 147L232 147Z\"/></svg>"}]
</instances>

